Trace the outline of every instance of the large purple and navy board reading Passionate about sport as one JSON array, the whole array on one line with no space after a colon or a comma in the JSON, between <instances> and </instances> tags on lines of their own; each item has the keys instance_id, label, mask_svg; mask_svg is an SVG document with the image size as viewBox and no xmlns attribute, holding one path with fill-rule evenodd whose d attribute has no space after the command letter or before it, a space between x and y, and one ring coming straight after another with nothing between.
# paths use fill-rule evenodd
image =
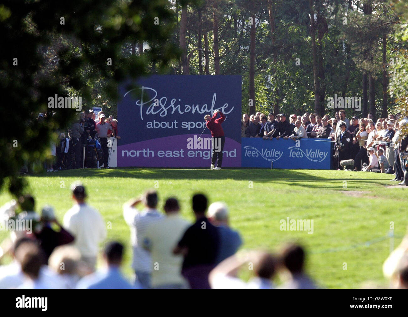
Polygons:
<instances>
[{"instance_id":1,"label":"large purple and navy board reading Passionate about sport","mask_svg":"<svg viewBox=\"0 0 408 317\"><path fill-rule=\"evenodd\" d=\"M226 116L222 166L240 167L241 82L241 76L153 75L119 85L118 167L209 167L204 115L214 110Z\"/></svg>"}]
</instances>

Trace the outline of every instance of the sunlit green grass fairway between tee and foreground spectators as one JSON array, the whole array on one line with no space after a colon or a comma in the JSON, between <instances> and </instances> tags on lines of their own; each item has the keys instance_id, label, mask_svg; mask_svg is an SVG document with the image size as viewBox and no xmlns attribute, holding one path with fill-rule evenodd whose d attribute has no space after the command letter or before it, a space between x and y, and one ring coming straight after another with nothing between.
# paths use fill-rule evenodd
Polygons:
<instances>
[{"instance_id":1,"label":"sunlit green grass fairway between tee and foreground spectators","mask_svg":"<svg viewBox=\"0 0 408 317\"><path fill-rule=\"evenodd\" d=\"M327 288L360 288L367 281L388 286L382 264L390 240L380 238L394 222L396 247L408 224L408 188L387 188L391 178L379 173L266 169L71 170L27 177L37 211L50 204L60 220L73 204L70 184L81 180L88 203L111 222L108 239L118 239L127 247L124 272L129 277L130 233L122 204L145 189L157 188L160 207L166 197L177 196L188 220L193 220L193 193L206 193L210 203L226 202L231 226L242 234L244 249L277 251L288 241L302 243L308 251L307 271ZM1 205L10 199L8 193L0 194ZM314 233L280 231L279 220L286 217L313 219ZM6 236L7 232L0 232L0 239ZM380 241L365 244L375 239Z\"/></svg>"}]
</instances>

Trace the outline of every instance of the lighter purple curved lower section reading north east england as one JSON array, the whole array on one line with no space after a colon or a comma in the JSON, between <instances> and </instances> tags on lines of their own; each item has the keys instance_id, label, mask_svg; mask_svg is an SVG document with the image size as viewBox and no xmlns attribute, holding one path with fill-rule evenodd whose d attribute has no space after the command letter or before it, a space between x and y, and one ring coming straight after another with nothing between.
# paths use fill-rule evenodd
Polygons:
<instances>
[{"instance_id":1,"label":"lighter purple curved lower section reading north east england","mask_svg":"<svg viewBox=\"0 0 408 317\"><path fill-rule=\"evenodd\" d=\"M118 146L118 167L209 167L211 135L173 135ZM120 160L119 160L120 157ZM223 166L241 166L241 144L225 138Z\"/></svg>"}]
</instances>

